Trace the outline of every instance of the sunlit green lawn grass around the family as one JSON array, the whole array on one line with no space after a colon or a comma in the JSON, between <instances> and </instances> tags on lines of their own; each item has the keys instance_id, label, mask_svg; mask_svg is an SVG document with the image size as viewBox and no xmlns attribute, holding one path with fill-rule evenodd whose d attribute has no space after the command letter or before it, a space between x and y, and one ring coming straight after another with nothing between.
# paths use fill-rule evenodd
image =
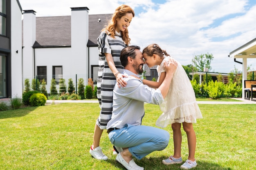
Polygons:
<instances>
[{"instance_id":1,"label":"sunlit green lawn grass around the family","mask_svg":"<svg viewBox=\"0 0 256 170\"><path fill-rule=\"evenodd\" d=\"M197 135L195 170L256 169L256 105L199 105L203 119L194 124ZM145 104L143 124L155 126L159 106ZM12 170L124 170L112 155L112 145L103 131L101 148L109 157L90 156L97 103L62 103L0 112L0 169ZM180 165L161 163L173 154L171 126L165 128L170 143L140 161L145 170L179 170ZM182 158L188 157L182 130Z\"/></svg>"}]
</instances>

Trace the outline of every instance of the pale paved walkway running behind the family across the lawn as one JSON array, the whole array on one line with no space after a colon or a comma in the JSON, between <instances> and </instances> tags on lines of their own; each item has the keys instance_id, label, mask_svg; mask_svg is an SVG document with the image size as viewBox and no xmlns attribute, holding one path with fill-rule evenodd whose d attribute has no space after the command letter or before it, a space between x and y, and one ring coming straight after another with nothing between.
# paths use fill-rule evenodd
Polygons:
<instances>
[{"instance_id":1,"label":"pale paved walkway running behind the family across the lawn","mask_svg":"<svg viewBox=\"0 0 256 170\"><path fill-rule=\"evenodd\" d=\"M223 102L223 101L198 101L198 104L230 104L230 105L238 105L238 104L256 104L256 102L251 100L245 100L242 98L232 98L235 100L239 100L237 102ZM1 98L0 102L6 102L9 104L9 98ZM47 100L46 103L99 103L98 100Z\"/></svg>"}]
</instances>

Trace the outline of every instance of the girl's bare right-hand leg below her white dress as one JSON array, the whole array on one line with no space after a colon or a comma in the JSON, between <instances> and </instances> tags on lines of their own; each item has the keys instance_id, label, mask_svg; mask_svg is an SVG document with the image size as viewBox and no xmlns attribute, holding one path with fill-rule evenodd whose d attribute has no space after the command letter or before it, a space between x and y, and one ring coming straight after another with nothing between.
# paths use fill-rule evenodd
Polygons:
<instances>
[{"instance_id":1,"label":"girl's bare right-hand leg below her white dress","mask_svg":"<svg viewBox=\"0 0 256 170\"><path fill-rule=\"evenodd\" d=\"M186 132L189 146L189 160L195 161L196 136L192 123L183 122L183 129Z\"/></svg>"}]
</instances>

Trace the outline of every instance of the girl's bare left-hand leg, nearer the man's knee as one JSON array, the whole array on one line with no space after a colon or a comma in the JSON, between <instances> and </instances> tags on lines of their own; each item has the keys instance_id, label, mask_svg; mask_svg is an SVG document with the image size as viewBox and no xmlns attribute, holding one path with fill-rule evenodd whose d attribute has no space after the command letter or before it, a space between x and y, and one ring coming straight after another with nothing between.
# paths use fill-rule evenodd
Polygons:
<instances>
[{"instance_id":1,"label":"girl's bare left-hand leg, nearer the man's knee","mask_svg":"<svg viewBox=\"0 0 256 170\"><path fill-rule=\"evenodd\" d=\"M181 124L180 123L173 123L173 143L174 143L174 158L181 157L181 142L182 142L182 133L181 133Z\"/></svg>"}]
</instances>

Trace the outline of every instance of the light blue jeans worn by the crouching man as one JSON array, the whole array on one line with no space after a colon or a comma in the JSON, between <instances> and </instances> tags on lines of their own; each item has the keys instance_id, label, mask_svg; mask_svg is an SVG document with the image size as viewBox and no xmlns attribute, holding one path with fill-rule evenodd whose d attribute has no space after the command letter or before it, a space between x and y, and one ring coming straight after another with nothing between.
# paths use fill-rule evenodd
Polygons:
<instances>
[{"instance_id":1,"label":"light blue jeans worn by the crouching man","mask_svg":"<svg viewBox=\"0 0 256 170\"><path fill-rule=\"evenodd\" d=\"M129 126L108 134L111 144L128 148L137 159L142 159L155 150L168 146L170 135L167 131L152 126Z\"/></svg>"}]
</instances>

